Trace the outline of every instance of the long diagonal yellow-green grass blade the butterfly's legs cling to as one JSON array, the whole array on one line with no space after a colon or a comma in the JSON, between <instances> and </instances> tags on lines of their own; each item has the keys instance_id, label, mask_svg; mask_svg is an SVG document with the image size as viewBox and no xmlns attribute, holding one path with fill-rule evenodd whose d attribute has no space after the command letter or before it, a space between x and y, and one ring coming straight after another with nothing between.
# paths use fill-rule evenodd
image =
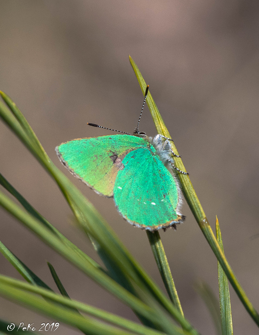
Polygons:
<instances>
[{"instance_id":1,"label":"long diagonal yellow-green grass blade the butterfly's legs cling to","mask_svg":"<svg viewBox=\"0 0 259 335\"><path fill-rule=\"evenodd\" d=\"M145 93L146 89L146 83L137 67L133 59L129 56L130 58L130 63L133 67L133 70L136 74L136 77L138 79L138 82L140 84L141 90L143 94ZM147 99L146 99L147 105L149 107L151 116L154 120L156 129L158 134L164 135L166 137L170 137L169 131L167 130L165 123L163 119L161 118L161 115L158 112L158 109L154 103L154 100L151 96L150 90L148 91ZM173 151L178 154L178 151L175 147L175 144L173 141L170 141L170 144L172 146ZM172 156L174 159L174 157ZM181 170L181 171L186 171L185 167L183 165L182 159L177 158L174 159L175 166ZM215 235L211 229L211 226L209 225L208 219L205 216L205 213L203 211L203 208L201 207L200 201L194 191L194 188L192 186L192 183L190 181L189 176L183 175L183 174L178 174L179 179L182 184L182 190L184 197L203 233L205 236L210 248L212 249L213 253L215 254L217 260L219 261L220 265L222 266L226 276L228 277L231 285L233 286L234 290L236 291L238 297L240 298L242 304L246 308L247 312L250 314L252 319L255 321L255 323L259 326L259 315L258 312L255 310L251 302L249 301L245 291L243 290L242 286L240 285L239 281L237 280L231 266L229 265L228 261L226 260L222 250L220 249L220 246L215 238Z\"/></svg>"}]
</instances>

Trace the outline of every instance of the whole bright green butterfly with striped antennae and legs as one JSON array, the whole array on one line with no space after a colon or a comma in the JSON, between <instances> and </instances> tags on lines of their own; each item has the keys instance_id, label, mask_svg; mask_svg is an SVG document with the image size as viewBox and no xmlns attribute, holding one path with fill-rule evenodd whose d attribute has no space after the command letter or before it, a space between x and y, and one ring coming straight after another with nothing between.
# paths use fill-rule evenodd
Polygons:
<instances>
[{"instance_id":1,"label":"whole bright green butterfly with striped antennae and legs","mask_svg":"<svg viewBox=\"0 0 259 335\"><path fill-rule=\"evenodd\" d=\"M150 231L176 229L185 217L180 213L182 193L175 170L188 173L174 165L172 154L181 156L173 152L172 139L140 132L140 117L134 134L118 131L122 134L79 138L61 143L56 152L76 178L96 193L114 197L117 210L132 225Z\"/></svg>"}]
</instances>

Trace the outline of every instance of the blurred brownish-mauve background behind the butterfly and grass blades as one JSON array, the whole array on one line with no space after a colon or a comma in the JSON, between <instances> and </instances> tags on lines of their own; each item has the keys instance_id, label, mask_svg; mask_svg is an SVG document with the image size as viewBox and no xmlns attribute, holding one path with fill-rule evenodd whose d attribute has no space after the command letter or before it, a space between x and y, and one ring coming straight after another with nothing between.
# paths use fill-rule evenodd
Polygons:
<instances>
[{"instance_id":1,"label":"blurred brownish-mauve background behind the butterfly and grass blades","mask_svg":"<svg viewBox=\"0 0 259 335\"><path fill-rule=\"evenodd\" d=\"M132 132L143 102L128 60L134 59L178 151L212 228L259 310L259 45L258 1L1 1L0 89L20 108L51 159L111 224L163 287L146 233L117 213L61 165L55 146L110 134L86 122ZM155 135L148 109L141 131ZM0 123L0 171L66 237L98 261L75 225L55 182ZM2 189L1 189L2 190ZM215 334L194 283L218 295L217 262L186 203L184 224L160 232L185 316ZM119 300L86 278L0 209L0 240L31 270L53 283L55 267L71 298L137 320ZM1 273L21 278L0 255ZM234 333L258 328L230 288ZM49 318L0 298L0 318L39 325ZM61 334L78 334L61 325Z\"/></svg>"}]
</instances>

